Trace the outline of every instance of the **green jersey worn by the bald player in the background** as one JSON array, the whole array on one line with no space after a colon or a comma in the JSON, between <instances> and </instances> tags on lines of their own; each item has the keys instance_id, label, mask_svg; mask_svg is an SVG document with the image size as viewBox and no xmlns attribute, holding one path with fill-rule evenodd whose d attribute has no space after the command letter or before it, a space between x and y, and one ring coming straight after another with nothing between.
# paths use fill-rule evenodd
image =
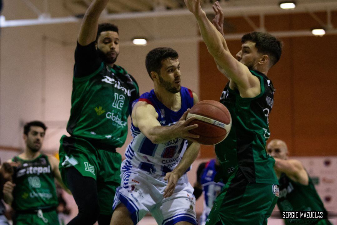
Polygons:
<instances>
[{"instance_id":1,"label":"green jersey worn by the bald player in the background","mask_svg":"<svg viewBox=\"0 0 337 225\"><path fill-rule=\"evenodd\" d=\"M327 210L324 208L323 202L319 198L314 184L309 177L309 184L302 185L287 177L284 173L281 174L280 179L280 194L277 200L277 206L281 212L284 211L320 211L323 215L327 215ZM319 220L319 219L317 219ZM296 219L285 220L286 224L294 224ZM312 223L314 219L310 219ZM304 223L303 219L299 220L300 224Z\"/></svg>"}]
</instances>

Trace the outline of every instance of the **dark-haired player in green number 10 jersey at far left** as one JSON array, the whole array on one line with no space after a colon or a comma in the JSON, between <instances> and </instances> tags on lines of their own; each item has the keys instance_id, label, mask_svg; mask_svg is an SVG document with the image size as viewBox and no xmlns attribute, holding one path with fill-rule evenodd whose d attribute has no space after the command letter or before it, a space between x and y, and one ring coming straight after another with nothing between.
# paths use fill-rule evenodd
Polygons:
<instances>
[{"instance_id":1,"label":"dark-haired player in green number 10 jersey at far left","mask_svg":"<svg viewBox=\"0 0 337 225\"><path fill-rule=\"evenodd\" d=\"M14 157L13 182L4 184L4 200L15 210L14 225L59 225L54 178L65 188L58 168L59 161L40 152L47 127L31 121L24 127L26 148ZM13 163L12 163L13 164Z\"/></svg>"}]
</instances>

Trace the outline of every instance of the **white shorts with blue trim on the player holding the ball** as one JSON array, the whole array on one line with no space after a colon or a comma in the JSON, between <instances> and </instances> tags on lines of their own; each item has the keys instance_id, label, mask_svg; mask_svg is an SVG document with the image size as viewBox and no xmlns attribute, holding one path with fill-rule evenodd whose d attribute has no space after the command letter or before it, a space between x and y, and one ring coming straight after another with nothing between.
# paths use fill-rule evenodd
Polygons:
<instances>
[{"instance_id":1,"label":"white shorts with blue trim on the player holding the ball","mask_svg":"<svg viewBox=\"0 0 337 225\"><path fill-rule=\"evenodd\" d=\"M163 176L131 168L122 171L121 178L113 208L122 202L129 210L134 224L151 213L161 225L173 225L180 221L196 225L194 189L186 174L180 177L173 194L168 198L163 197L167 186Z\"/></svg>"}]
</instances>

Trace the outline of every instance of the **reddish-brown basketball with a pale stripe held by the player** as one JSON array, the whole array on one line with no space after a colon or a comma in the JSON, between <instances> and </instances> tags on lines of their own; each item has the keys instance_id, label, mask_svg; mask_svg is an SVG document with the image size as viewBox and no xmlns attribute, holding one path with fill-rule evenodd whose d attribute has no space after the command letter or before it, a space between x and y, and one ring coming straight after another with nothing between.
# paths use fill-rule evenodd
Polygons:
<instances>
[{"instance_id":1,"label":"reddish-brown basketball with a pale stripe held by the player","mask_svg":"<svg viewBox=\"0 0 337 225\"><path fill-rule=\"evenodd\" d=\"M187 118L196 119L189 125L198 124L190 133L200 135L196 140L200 144L214 145L224 140L232 126L232 117L228 109L220 102L204 100L195 104L187 114Z\"/></svg>"}]
</instances>

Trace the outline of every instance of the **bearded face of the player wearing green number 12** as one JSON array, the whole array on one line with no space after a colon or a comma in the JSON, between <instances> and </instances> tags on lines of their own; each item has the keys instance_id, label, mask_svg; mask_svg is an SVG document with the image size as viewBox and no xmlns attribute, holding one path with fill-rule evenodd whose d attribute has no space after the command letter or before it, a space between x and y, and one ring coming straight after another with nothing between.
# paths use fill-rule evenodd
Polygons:
<instances>
[{"instance_id":1,"label":"bearded face of the player wearing green number 12","mask_svg":"<svg viewBox=\"0 0 337 225\"><path fill-rule=\"evenodd\" d=\"M97 51L106 64L115 63L119 54L119 36L115 31L103 31L97 40Z\"/></svg>"}]
</instances>

